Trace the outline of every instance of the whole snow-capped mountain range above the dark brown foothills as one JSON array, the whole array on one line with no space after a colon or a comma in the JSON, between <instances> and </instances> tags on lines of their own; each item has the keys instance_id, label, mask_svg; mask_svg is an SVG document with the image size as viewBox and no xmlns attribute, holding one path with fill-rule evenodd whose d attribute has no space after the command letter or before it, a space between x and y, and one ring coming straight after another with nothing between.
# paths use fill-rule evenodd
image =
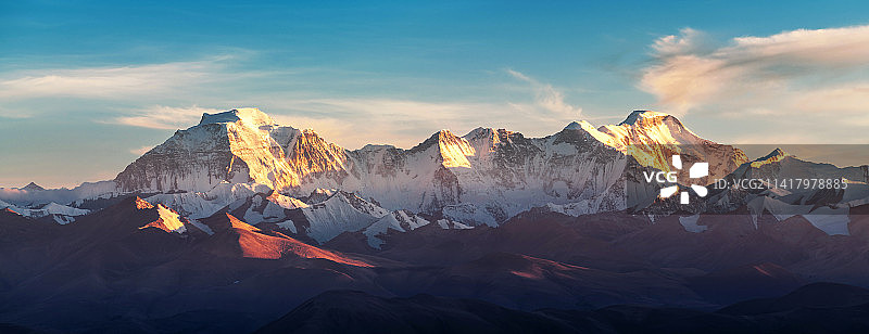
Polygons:
<instances>
[{"instance_id":1,"label":"whole snow-capped mountain range above the dark brown foothills","mask_svg":"<svg viewBox=\"0 0 869 334\"><path fill-rule=\"evenodd\" d=\"M203 114L198 125L176 131L114 181L73 190L32 183L0 189L0 198L14 201L7 206L17 205L18 211L42 206L58 211L58 204L47 204L72 203L55 214L63 215L55 220L68 222L87 214L73 211L88 207L85 203L134 193L210 234L199 220L232 213L248 223L275 224L318 243L360 232L378 247L387 233L431 222L445 229L498 227L532 208L569 216L628 208L654 215L684 210L673 201L660 201L659 185L642 182L640 176L641 169L653 168L677 171L680 180L688 177L688 168L672 166L675 154L685 166L709 164L709 176L697 181L703 184L726 177L783 171L820 177L844 170L780 151L748 162L741 150L703 139L671 115L648 111L633 112L618 125L571 123L543 138L492 128L464 136L441 130L407 150L347 150L313 130L278 125L256 108L239 108ZM846 171L855 178L860 172ZM869 196L861 194L852 190L842 198L859 204ZM793 204L793 196L781 195L718 191L690 210L729 211L757 196ZM631 203L629 197L641 201Z\"/></svg>"}]
</instances>

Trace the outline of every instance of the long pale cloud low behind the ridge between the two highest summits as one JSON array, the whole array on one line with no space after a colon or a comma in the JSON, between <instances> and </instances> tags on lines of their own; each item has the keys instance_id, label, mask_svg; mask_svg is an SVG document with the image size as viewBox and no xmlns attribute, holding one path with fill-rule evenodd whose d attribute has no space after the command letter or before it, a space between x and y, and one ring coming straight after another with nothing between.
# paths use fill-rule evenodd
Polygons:
<instances>
[{"instance_id":1,"label":"long pale cloud low behind the ridge between the two highest summits","mask_svg":"<svg viewBox=\"0 0 869 334\"><path fill-rule=\"evenodd\" d=\"M263 110L277 123L312 128L326 140L348 149L368 143L408 149L438 130L464 134L476 127L552 131L565 124L537 121L509 104L477 102L426 102L394 99L300 99L278 100Z\"/></svg>"}]
</instances>

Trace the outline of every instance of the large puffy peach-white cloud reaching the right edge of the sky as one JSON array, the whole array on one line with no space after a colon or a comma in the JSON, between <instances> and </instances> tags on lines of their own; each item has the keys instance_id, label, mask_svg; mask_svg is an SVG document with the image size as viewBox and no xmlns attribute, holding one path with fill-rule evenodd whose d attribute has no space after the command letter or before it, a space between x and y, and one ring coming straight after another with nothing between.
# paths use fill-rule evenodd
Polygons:
<instances>
[{"instance_id":1,"label":"large puffy peach-white cloud reaching the right edge of the sky","mask_svg":"<svg viewBox=\"0 0 869 334\"><path fill-rule=\"evenodd\" d=\"M767 37L738 37L710 47L704 34L687 28L652 46L654 64L644 68L640 88L675 114L727 107L790 108L811 112L865 111L869 81L849 76L869 69L869 26L799 29ZM855 81L856 80L856 81ZM804 97L837 97L837 101Z\"/></svg>"}]
</instances>

